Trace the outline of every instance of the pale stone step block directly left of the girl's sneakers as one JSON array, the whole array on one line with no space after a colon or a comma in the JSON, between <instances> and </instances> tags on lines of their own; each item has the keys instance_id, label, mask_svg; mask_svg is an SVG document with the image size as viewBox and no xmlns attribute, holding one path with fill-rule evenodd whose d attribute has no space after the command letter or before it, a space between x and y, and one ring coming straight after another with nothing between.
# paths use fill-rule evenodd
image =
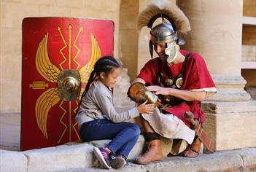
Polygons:
<instances>
[{"instance_id":1,"label":"pale stone step block directly left of the girl's sneakers","mask_svg":"<svg viewBox=\"0 0 256 172\"><path fill-rule=\"evenodd\" d=\"M87 168L94 161L93 146L88 143L33 149L23 153L28 157L28 171Z\"/></svg>"}]
</instances>

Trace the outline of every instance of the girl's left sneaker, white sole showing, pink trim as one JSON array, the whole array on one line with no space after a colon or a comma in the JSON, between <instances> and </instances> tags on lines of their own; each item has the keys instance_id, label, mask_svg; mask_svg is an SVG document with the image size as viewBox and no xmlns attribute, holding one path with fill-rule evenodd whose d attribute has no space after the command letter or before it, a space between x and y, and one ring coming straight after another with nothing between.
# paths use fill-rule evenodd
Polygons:
<instances>
[{"instance_id":1,"label":"girl's left sneaker, white sole showing, pink trim","mask_svg":"<svg viewBox=\"0 0 256 172\"><path fill-rule=\"evenodd\" d=\"M111 168L111 165L109 163L109 152L107 152L106 149L104 149L103 147L93 147L93 152L104 168Z\"/></svg>"}]
</instances>

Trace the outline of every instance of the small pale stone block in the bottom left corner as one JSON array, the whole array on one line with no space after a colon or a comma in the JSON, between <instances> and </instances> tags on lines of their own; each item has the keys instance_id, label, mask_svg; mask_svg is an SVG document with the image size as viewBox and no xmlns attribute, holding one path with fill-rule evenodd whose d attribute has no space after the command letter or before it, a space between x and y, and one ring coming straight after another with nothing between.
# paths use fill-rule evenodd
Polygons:
<instances>
[{"instance_id":1,"label":"small pale stone block in the bottom left corner","mask_svg":"<svg viewBox=\"0 0 256 172\"><path fill-rule=\"evenodd\" d=\"M0 149L0 171L28 171L27 157L23 154L23 152L6 151Z\"/></svg>"}]
</instances>

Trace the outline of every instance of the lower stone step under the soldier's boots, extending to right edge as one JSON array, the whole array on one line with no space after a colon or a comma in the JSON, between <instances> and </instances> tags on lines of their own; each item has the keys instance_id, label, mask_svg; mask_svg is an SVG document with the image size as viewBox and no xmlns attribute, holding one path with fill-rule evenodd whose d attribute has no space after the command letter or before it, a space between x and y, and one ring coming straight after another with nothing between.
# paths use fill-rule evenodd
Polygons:
<instances>
[{"instance_id":1,"label":"lower stone step under the soldier's boots, extending to right edge","mask_svg":"<svg viewBox=\"0 0 256 172\"><path fill-rule=\"evenodd\" d=\"M136 165L128 163L123 169L124 172L177 172L177 171L256 171L256 148L236 149L214 154L201 154L196 158L187 157L166 157L158 163L148 165ZM100 168L74 168L58 172L96 172L96 171L117 171L115 169L104 170Z\"/></svg>"}]
</instances>

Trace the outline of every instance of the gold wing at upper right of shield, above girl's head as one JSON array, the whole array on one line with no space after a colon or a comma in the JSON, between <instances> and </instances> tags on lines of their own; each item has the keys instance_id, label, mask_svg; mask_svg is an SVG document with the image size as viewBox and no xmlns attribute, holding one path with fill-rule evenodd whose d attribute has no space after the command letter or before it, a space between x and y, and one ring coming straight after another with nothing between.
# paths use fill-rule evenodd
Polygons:
<instances>
[{"instance_id":1,"label":"gold wing at upper right of shield, above girl's head","mask_svg":"<svg viewBox=\"0 0 256 172\"><path fill-rule=\"evenodd\" d=\"M93 34L90 34L90 40L92 42L92 50L91 50L90 60L85 66L83 66L79 70L82 83L88 82L90 73L93 71L94 64L96 63L98 58L101 58L101 48L99 47L98 42L97 42L95 36L93 36Z\"/></svg>"}]
</instances>

